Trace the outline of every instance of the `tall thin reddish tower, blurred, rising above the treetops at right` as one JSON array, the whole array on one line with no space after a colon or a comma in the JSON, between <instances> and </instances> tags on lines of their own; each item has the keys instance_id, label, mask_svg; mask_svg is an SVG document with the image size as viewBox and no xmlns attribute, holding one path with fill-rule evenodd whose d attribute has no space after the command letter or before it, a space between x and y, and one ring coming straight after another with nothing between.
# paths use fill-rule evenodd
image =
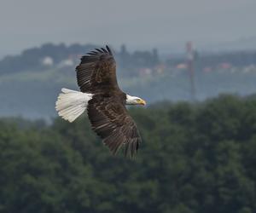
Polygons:
<instances>
[{"instance_id":1,"label":"tall thin reddish tower, blurred, rising above the treetops at right","mask_svg":"<svg viewBox=\"0 0 256 213\"><path fill-rule=\"evenodd\" d=\"M194 68L194 49L192 42L186 43L187 49L187 66L189 71L190 82L190 98L191 101L195 101L195 68Z\"/></svg>"}]
</instances>

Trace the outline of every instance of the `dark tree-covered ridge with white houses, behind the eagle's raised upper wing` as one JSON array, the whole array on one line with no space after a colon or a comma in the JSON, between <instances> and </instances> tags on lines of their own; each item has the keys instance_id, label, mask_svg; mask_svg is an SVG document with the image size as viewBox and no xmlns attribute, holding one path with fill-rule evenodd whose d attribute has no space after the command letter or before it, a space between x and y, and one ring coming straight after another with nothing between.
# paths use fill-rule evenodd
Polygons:
<instances>
[{"instance_id":1,"label":"dark tree-covered ridge with white houses, behind the eagle's raised upper wing","mask_svg":"<svg viewBox=\"0 0 256 213\"><path fill-rule=\"evenodd\" d=\"M0 75L16 72L41 72L49 67L60 68L64 66L75 66L79 63L82 55L92 49L100 48L97 45L74 43L70 46L46 43L38 48L26 49L20 55L9 55L0 60ZM113 49L114 51L114 49ZM125 45L115 52L119 60L119 66L134 68L138 66L151 67L159 63L156 49L152 51L135 51L128 53Z\"/></svg>"}]
</instances>

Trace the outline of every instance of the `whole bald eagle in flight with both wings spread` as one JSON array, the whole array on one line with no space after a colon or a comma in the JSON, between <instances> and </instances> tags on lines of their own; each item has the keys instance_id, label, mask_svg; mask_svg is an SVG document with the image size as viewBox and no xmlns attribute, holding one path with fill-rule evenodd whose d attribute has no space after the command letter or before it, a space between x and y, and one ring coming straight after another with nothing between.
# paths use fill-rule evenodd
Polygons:
<instances>
[{"instance_id":1,"label":"whole bald eagle in flight with both wings spread","mask_svg":"<svg viewBox=\"0 0 256 213\"><path fill-rule=\"evenodd\" d=\"M125 156L132 158L141 137L125 105L145 105L146 102L119 89L116 63L108 45L84 55L76 73L80 91L61 89L55 103L59 116L73 122L86 109L92 130L111 153L116 154L123 147Z\"/></svg>"}]
</instances>

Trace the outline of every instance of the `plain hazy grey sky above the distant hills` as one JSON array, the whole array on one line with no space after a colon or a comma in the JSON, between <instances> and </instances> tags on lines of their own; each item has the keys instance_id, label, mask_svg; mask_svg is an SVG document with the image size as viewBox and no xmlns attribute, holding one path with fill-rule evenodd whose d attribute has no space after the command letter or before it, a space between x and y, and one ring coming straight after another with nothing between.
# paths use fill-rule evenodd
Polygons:
<instances>
[{"instance_id":1,"label":"plain hazy grey sky above the distant hills","mask_svg":"<svg viewBox=\"0 0 256 213\"><path fill-rule=\"evenodd\" d=\"M42 43L177 48L256 36L256 0L0 0L0 55Z\"/></svg>"}]
</instances>

